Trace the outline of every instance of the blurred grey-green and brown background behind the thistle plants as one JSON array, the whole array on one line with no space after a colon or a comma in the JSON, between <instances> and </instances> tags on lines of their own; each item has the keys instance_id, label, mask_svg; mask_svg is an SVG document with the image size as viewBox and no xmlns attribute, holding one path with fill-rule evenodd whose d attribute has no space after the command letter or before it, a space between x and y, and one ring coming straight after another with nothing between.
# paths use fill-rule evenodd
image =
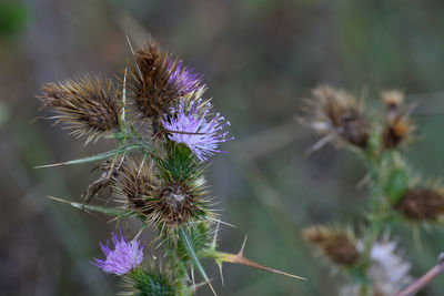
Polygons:
<instances>
[{"instance_id":1,"label":"blurred grey-green and brown background behind the thistle plants","mask_svg":"<svg viewBox=\"0 0 444 296\"><path fill-rule=\"evenodd\" d=\"M77 200L91 165L36 165L110 150L83 145L51 121L37 120L44 82L112 75L151 34L204 74L208 95L232 123L208 175L223 221L221 248L309 278L297 282L225 266L220 295L334 295L329 268L301 239L311 223L357 223L367 190L353 155L332 146L304 157L316 136L295 116L320 82L365 93L403 90L417 103L418 141L406 155L440 178L444 167L444 2L440 0L0 0L0 295L114 295L119 285L89 261L115 224L47 198ZM417 171L417 172L416 172ZM135 225L137 226L137 225ZM125 225L129 232L135 226ZM131 228L132 227L132 228ZM443 228L395 232L413 275L443 251ZM148 235L147 235L148 237ZM442 295L437 278L423 295ZM211 295L206 287L198 295Z\"/></svg>"}]
</instances>

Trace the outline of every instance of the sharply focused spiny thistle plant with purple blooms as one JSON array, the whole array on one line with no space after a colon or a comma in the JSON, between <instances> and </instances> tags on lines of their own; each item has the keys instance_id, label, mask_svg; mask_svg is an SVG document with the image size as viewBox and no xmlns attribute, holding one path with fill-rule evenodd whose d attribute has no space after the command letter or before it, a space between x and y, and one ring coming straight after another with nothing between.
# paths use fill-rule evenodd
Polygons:
<instances>
[{"instance_id":1,"label":"sharply focused spiny thistle plant with purple blooms","mask_svg":"<svg viewBox=\"0 0 444 296\"><path fill-rule=\"evenodd\" d=\"M204 99L203 76L155 42L141 44L133 58L115 81L85 75L47 83L39 96L42 109L74 136L115 143L111 151L41 166L95 163L101 172L81 202L52 198L142 223L133 237L112 234L113 246L101 245L105 258L92 264L122 278L130 295L192 295L200 286L194 269L215 294L201 264L204 257L221 271L223 263L236 263L301 278L245 258L243 247L239 254L218 249L221 221L204 173L209 160L222 152L220 145L233 140L230 123ZM98 202L98 195L113 203ZM139 235L145 227L157 232L152 241L165 254L162 268L143 255Z\"/></svg>"}]
</instances>

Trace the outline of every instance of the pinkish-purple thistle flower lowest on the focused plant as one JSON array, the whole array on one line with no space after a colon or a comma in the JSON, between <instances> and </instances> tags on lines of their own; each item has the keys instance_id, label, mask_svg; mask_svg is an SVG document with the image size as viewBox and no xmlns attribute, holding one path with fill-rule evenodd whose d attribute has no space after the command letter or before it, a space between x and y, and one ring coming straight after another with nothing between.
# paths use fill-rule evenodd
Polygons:
<instances>
[{"instance_id":1,"label":"pinkish-purple thistle flower lowest on the focused plant","mask_svg":"<svg viewBox=\"0 0 444 296\"><path fill-rule=\"evenodd\" d=\"M114 233L111 234L114 249L100 244L102 252L107 256L104 261L94 258L95 262L91 262L97 267L101 268L107 274L124 275L133 271L143 259L143 247L140 246L140 241L134 239L128 242L122 234L119 236Z\"/></svg>"}]
</instances>

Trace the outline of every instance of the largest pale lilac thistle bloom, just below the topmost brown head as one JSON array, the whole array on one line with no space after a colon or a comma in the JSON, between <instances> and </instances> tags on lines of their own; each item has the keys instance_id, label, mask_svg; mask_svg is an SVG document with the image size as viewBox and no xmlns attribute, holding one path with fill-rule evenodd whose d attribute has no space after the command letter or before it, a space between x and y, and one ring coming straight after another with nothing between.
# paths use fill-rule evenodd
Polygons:
<instances>
[{"instance_id":1,"label":"largest pale lilac thistle bloom, just below the topmost brown head","mask_svg":"<svg viewBox=\"0 0 444 296\"><path fill-rule=\"evenodd\" d=\"M200 161L205 161L216 152L219 143L233 140L226 137L229 132L222 132L230 122L223 122L224 118L220 113L206 122L205 116L210 110L210 103L205 106L203 114L199 114L199 105L201 100L189 104L185 110L185 101L179 103L179 110L174 109L174 116L165 115L162 124L169 132L169 139L178 143L184 143Z\"/></svg>"}]
</instances>

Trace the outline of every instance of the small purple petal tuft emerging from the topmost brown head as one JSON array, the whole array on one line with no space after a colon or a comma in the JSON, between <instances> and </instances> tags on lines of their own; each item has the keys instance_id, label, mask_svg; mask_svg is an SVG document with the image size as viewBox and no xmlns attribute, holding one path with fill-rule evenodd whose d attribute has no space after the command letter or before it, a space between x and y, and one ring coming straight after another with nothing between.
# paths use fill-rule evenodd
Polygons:
<instances>
[{"instance_id":1,"label":"small purple petal tuft emerging from the topmost brown head","mask_svg":"<svg viewBox=\"0 0 444 296\"><path fill-rule=\"evenodd\" d=\"M192 69L182 67L182 61L172 63L169 61L168 69L171 71L168 83L178 88L180 95L185 95L201 88L203 75L192 72Z\"/></svg>"}]
</instances>

